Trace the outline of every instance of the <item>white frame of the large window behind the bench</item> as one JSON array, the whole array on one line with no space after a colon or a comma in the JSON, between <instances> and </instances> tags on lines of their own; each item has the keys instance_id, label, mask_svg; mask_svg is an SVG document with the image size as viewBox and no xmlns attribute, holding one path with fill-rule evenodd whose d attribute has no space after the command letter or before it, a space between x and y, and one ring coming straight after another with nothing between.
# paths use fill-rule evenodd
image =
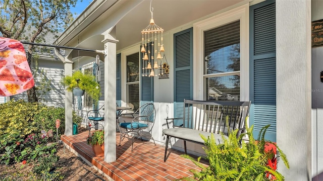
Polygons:
<instances>
[{"instance_id":1,"label":"white frame of the large window behind the bench","mask_svg":"<svg viewBox=\"0 0 323 181\"><path fill-rule=\"evenodd\" d=\"M193 99L204 99L204 31L240 20L240 101L249 101L249 5L193 24ZM230 75L230 74L228 74Z\"/></svg>"}]
</instances>

